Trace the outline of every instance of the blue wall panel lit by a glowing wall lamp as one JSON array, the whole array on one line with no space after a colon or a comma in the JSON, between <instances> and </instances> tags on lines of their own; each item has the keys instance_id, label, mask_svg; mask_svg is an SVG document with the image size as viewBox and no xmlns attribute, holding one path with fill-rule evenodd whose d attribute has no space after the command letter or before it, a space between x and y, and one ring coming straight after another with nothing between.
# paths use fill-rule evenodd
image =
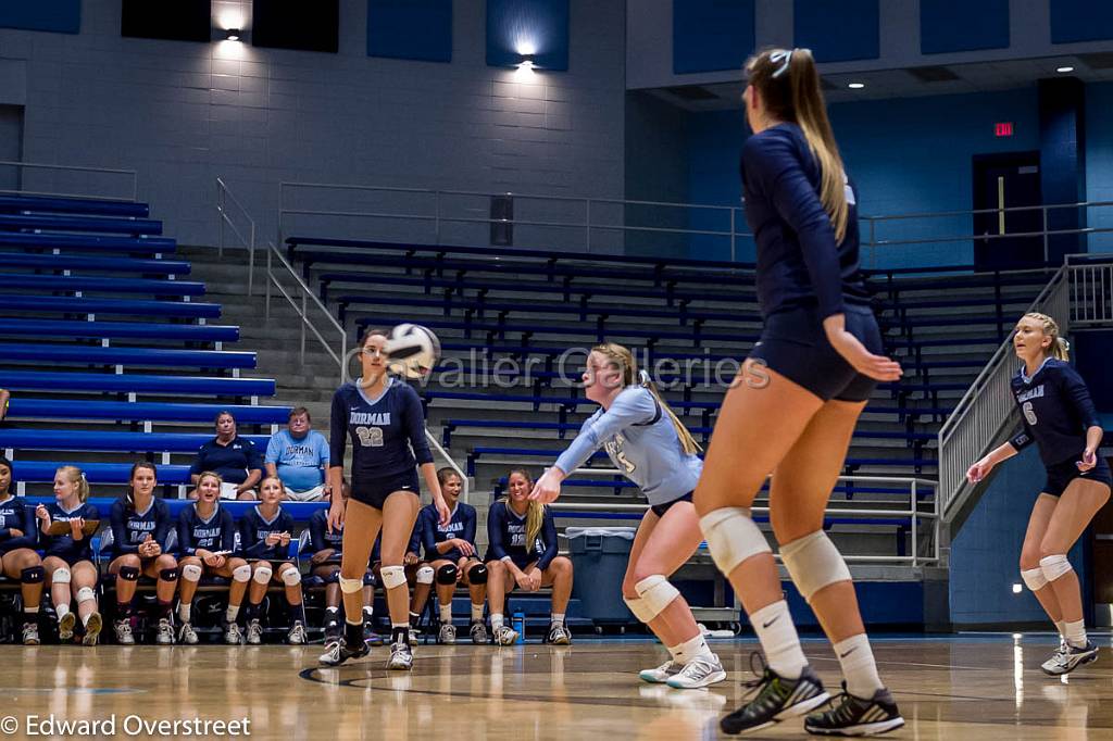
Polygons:
<instances>
[{"instance_id":1,"label":"blue wall panel lit by a glowing wall lamp","mask_svg":"<svg viewBox=\"0 0 1113 741\"><path fill-rule=\"evenodd\" d=\"M539 69L567 70L568 12L568 0L487 0L487 65L516 66L524 45Z\"/></svg>"}]
</instances>

